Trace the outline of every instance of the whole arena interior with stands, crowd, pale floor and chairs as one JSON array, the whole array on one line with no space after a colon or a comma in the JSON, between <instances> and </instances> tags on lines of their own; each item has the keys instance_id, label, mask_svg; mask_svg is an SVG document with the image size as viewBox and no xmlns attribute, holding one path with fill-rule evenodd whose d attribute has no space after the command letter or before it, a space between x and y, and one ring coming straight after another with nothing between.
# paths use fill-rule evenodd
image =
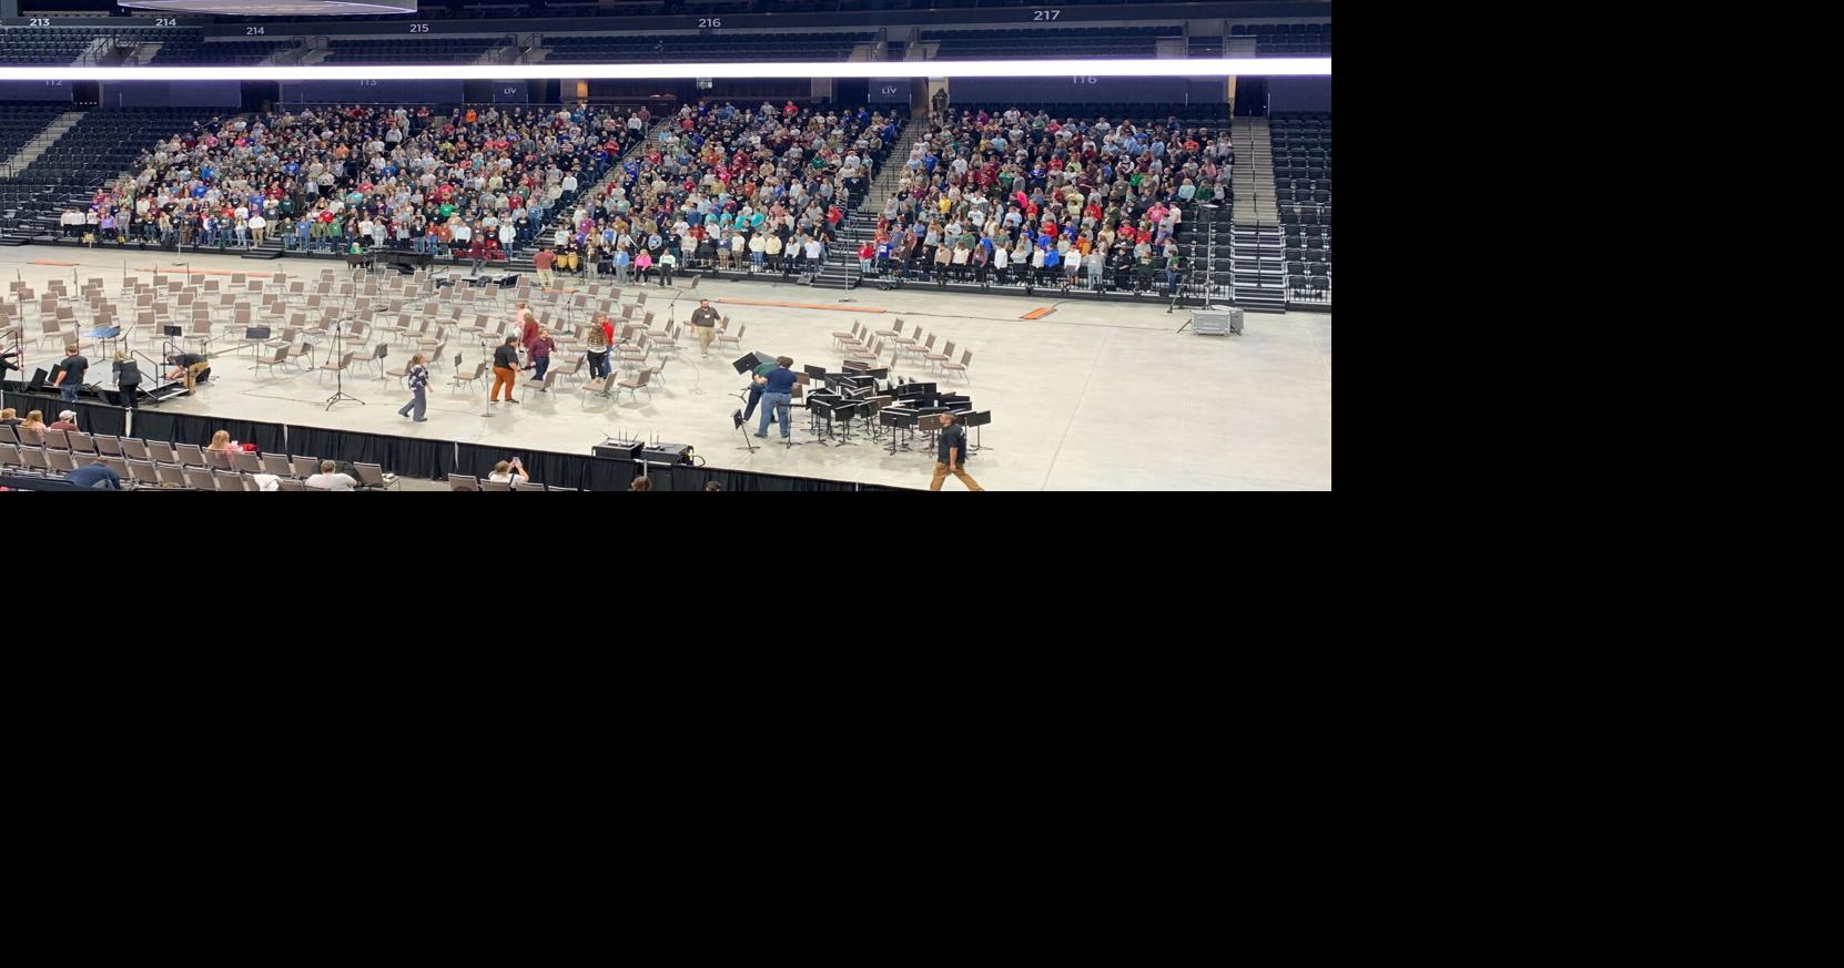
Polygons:
<instances>
[{"instance_id":1,"label":"whole arena interior with stands, crowd, pale floor and chairs","mask_svg":"<svg viewBox=\"0 0 1844 968\"><path fill-rule=\"evenodd\" d=\"M0 0L0 489L1330 490L1330 0Z\"/></svg>"}]
</instances>

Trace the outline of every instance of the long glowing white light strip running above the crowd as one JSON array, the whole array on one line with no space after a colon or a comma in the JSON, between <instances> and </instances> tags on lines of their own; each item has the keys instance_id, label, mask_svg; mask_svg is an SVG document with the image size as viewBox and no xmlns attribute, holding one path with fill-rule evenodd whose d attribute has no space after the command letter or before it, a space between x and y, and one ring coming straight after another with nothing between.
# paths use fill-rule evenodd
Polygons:
<instances>
[{"instance_id":1,"label":"long glowing white light strip running above the crowd","mask_svg":"<svg viewBox=\"0 0 1844 968\"><path fill-rule=\"evenodd\" d=\"M208 44L207 44L208 48ZM573 77L1330 77L1331 57L1105 61L765 61L682 65L7 66L0 81L544 81Z\"/></svg>"}]
</instances>

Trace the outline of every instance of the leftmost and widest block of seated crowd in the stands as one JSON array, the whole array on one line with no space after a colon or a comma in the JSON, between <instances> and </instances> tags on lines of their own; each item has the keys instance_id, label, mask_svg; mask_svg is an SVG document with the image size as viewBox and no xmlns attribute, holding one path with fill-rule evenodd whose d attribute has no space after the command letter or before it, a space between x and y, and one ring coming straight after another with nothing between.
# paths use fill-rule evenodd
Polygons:
<instances>
[{"instance_id":1,"label":"leftmost and widest block of seated crowd in the stands","mask_svg":"<svg viewBox=\"0 0 1844 968\"><path fill-rule=\"evenodd\" d=\"M304 251L406 247L505 258L642 138L609 111L332 107L218 120L153 146L66 232L188 247L280 236Z\"/></svg>"}]
</instances>

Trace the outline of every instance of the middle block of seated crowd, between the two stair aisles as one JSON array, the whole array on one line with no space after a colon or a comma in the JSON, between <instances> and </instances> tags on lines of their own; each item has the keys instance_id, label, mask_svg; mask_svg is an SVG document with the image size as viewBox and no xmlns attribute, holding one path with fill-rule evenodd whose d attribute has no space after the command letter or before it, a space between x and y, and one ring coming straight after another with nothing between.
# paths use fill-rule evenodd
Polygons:
<instances>
[{"instance_id":1,"label":"middle block of seated crowd, between the two stair aisles","mask_svg":"<svg viewBox=\"0 0 1844 968\"><path fill-rule=\"evenodd\" d=\"M867 107L686 105L621 171L555 221L542 273L671 284L684 266L817 267L872 166L896 142L894 116ZM540 275L542 275L540 273Z\"/></svg>"}]
</instances>

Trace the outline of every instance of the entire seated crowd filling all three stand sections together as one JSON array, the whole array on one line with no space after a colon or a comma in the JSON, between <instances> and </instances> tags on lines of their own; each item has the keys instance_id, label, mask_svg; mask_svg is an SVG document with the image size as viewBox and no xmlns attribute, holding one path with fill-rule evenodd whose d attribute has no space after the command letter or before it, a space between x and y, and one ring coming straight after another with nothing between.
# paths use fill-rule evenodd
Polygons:
<instances>
[{"instance_id":1,"label":"entire seated crowd filling all three stand sections together","mask_svg":"<svg viewBox=\"0 0 1844 968\"><path fill-rule=\"evenodd\" d=\"M673 271L817 271L900 120L793 103L679 109L339 107L197 125L98 192L70 230L192 247L409 247L483 262L522 242L553 271L671 284ZM597 184L612 164L607 184ZM1176 232L1226 201L1226 129L952 109L929 122L852 254L933 282L1151 288ZM594 192L590 192L594 188Z\"/></svg>"}]
</instances>

